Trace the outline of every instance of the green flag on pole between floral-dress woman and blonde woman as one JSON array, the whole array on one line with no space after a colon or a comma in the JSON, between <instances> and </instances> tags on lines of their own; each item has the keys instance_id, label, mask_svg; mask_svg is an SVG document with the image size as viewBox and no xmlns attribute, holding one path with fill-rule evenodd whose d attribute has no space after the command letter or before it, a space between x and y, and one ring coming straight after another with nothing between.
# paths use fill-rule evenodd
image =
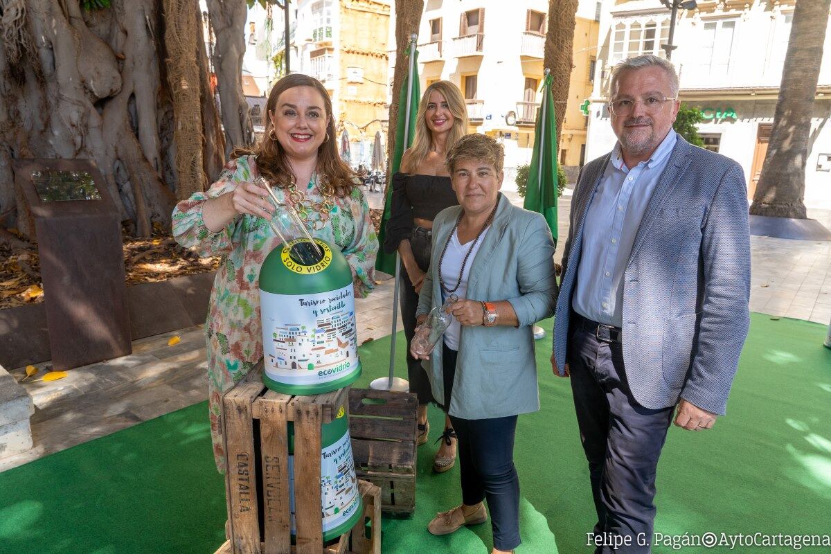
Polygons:
<instances>
[{"instance_id":1,"label":"green flag on pole between floral-dress woman and blonde woman","mask_svg":"<svg viewBox=\"0 0 831 554\"><path fill-rule=\"evenodd\" d=\"M415 44L413 45L415 46ZM409 49L408 49L409 50ZM419 79L418 79L418 51L413 48L413 60L410 60L410 57L407 56L406 60L408 63L411 64L413 68L413 78L412 82L410 76L408 75L404 81L404 86L401 87L401 94L398 96L398 123L396 125L396 150L392 153L392 167L390 170L390 175L396 174L399 167L401 166L401 157L404 155L404 150L407 147L413 144L413 139L416 136L416 115L418 114L418 105L421 100L421 91L419 86ZM406 52L405 52L406 53ZM410 91L410 110L407 110L407 91ZM407 120L410 121L409 126L409 134L406 137L406 145L405 145L405 125ZM381 246L384 244L384 238L386 238L386 222L389 221L391 215L391 204L392 204L392 179L390 179L386 184L386 193L384 195L384 215L381 218L381 232L378 233L378 242L381 243ZM383 248L378 251L378 257L376 257L375 261L375 268L378 271L389 273L390 275L396 274L396 252L392 252L391 254L387 254L383 251Z\"/></svg>"}]
</instances>

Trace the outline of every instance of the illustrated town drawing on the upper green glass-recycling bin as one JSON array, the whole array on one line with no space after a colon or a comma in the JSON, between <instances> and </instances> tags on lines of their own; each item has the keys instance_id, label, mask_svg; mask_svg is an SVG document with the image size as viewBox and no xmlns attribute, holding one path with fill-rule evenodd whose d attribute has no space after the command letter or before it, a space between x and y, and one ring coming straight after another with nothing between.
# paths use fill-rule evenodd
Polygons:
<instances>
[{"instance_id":1,"label":"illustrated town drawing on the upper green glass-recycling bin","mask_svg":"<svg viewBox=\"0 0 831 554\"><path fill-rule=\"evenodd\" d=\"M323 370L349 360L356 351L354 311L338 311L315 321L313 329L288 323L275 327L276 355L269 354L281 370Z\"/></svg>"}]
</instances>

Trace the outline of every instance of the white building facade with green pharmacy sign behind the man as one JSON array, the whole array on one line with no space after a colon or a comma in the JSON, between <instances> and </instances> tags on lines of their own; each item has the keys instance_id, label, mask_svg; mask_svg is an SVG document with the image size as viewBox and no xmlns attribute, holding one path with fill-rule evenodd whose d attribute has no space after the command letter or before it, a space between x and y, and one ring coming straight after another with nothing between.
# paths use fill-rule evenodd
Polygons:
<instances>
[{"instance_id":1,"label":"white building facade with green pharmacy sign behind the man","mask_svg":"<svg viewBox=\"0 0 831 554\"><path fill-rule=\"evenodd\" d=\"M753 197L765 161L794 0L698 0L676 20L671 60L678 71L679 99L701 110L705 146L735 159ZM606 154L617 140L608 102L612 66L661 48L670 12L652 0L607 0L600 21L595 86L589 105L587 159ZM831 208L831 33L824 46L805 168L805 204Z\"/></svg>"}]
</instances>

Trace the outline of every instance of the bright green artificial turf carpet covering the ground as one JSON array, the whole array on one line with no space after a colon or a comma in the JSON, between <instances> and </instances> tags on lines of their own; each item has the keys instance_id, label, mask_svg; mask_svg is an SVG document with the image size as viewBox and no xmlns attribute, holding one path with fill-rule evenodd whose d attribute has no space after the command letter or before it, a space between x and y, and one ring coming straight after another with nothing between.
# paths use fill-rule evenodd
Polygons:
<instances>
[{"instance_id":1,"label":"bright green artificial turf carpet covering the ground","mask_svg":"<svg viewBox=\"0 0 831 554\"><path fill-rule=\"evenodd\" d=\"M543 326L550 330L551 321ZM703 433L670 429L658 468L656 532L829 533L831 351L824 335L818 324L753 314L727 416ZM401 333L397 340L398 375L405 375ZM386 375L389 344L361 347L356 386ZM519 418L515 447L517 552L590 552L594 508L571 391L568 380L551 375L550 333L537 348L543 409ZM425 530L436 511L460 502L459 468L431 471L442 425L443 414L431 407L416 514L384 520L385 554L482 554L492 546L489 523L447 537ZM0 473L2 554L212 554L224 540L224 521L205 403Z\"/></svg>"}]
</instances>

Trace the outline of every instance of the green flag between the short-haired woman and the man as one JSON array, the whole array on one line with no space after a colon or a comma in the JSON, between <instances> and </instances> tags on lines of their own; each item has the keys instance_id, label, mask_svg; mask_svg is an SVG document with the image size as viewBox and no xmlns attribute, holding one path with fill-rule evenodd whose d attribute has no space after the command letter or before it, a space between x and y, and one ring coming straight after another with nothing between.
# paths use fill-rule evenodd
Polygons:
<instances>
[{"instance_id":1,"label":"green flag between the short-haired woman and the man","mask_svg":"<svg viewBox=\"0 0 831 554\"><path fill-rule=\"evenodd\" d=\"M557 130L554 102L551 97L552 76L543 79L543 101L537 112L534 130L534 154L528 174L523 208L542 213L554 240L557 240Z\"/></svg>"}]
</instances>

